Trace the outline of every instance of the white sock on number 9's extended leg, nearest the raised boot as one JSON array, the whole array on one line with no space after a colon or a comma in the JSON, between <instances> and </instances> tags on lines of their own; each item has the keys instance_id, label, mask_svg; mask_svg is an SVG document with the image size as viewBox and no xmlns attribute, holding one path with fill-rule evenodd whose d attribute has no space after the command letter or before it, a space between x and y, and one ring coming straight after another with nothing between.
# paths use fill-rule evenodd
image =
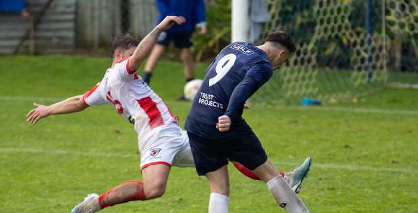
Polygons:
<instances>
[{"instance_id":1,"label":"white sock on number 9's extended leg, nearest the raised boot","mask_svg":"<svg viewBox=\"0 0 418 213\"><path fill-rule=\"evenodd\" d=\"M271 179L266 184L280 207L290 213L309 213L308 208L296 195L281 175Z\"/></svg>"}]
</instances>

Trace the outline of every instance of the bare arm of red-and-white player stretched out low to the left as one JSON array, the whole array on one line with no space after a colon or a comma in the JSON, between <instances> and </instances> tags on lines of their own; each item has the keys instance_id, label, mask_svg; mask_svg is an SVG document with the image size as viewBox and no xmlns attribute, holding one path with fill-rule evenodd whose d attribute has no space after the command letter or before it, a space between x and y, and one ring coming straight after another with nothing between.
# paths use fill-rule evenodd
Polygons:
<instances>
[{"instance_id":1,"label":"bare arm of red-and-white player stretched out low to the left","mask_svg":"<svg viewBox=\"0 0 418 213\"><path fill-rule=\"evenodd\" d=\"M49 115L79 112L88 107L83 102L83 95L67 98L49 106L37 103L33 103L33 105L35 108L26 115L26 121L32 124L36 124L39 119L48 117Z\"/></svg>"}]
</instances>

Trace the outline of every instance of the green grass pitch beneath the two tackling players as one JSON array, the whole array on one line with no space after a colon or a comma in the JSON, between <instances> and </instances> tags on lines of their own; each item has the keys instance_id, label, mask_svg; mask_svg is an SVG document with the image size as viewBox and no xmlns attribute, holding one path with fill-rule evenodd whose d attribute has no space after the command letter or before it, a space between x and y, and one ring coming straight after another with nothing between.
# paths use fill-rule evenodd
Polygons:
<instances>
[{"instance_id":1,"label":"green grass pitch beneath the two tackling players","mask_svg":"<svg viewBox=\"0 0 418 213\"><path fill-rule=\"evenodd\" d=\"M82 94L109 58L0 57L0 213L69 212L88 193L140 180L136 133L111 106L25 122L33 102ZM206 64L198 64L197 77ZM151 87L180 116L182 66L161 62ZM384 90L357 103L256 105L245 113L272 162L289 170L311 156L301 198L313 213L418 212L418 91ZM261 182L230 167L232 213L284 212ZM193 168L173 168L166 194L103 213L205 213L209 186Z\"/></svg>"}]
</instances>

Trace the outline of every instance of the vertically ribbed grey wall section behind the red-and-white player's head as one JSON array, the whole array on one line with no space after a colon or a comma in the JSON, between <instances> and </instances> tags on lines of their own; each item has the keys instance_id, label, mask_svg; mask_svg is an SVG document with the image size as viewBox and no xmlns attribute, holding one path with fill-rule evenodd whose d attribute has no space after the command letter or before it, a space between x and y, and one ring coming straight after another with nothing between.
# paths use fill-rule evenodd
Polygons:
<instances>
[{"instance_id":1,"label":"vertically ribbed grey wall section behind the red-and-white player's head","mask_svg":"<svg viewBox=\"0 0 418 213\"><path fill-rule=\"evenodd\" d=\"M158 16L154 0L78 0L77 8L77 45L93 48L125 31L144 37Z\"/></svg>"}]
</instances>

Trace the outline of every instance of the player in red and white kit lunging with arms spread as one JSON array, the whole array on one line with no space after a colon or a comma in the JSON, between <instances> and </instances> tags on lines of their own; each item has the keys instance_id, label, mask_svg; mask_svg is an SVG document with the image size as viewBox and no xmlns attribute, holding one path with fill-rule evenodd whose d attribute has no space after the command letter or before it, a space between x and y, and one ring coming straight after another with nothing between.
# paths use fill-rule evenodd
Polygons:
<instances>
[{"instance_id":1,"label":"player in red and white kit lunging with arms spread","mask_svg":"<svg viewBox=\"0 0 418 213\"><path fill-rule=\"evenodd\" d=\"M112 44L113 65L107 69L101 82L84 95L50 106L35 104L36 108L28 113L27 121L36 123L49 115L74 113L88 106L110 103L119 114L134 124L138 133L143 180L126 181L100 196L90 194L74 207L72 213L96 212L119 203L161 197L172 165L194 166L187 134L179 127L177 117L136 74L160 32L184 21L182 17L167 16L139 45L128 34L117 36ZM283 174L295 191L299 190L309 165L308 158L302 166ZM235 162L235 166L245 175L258 179L238 162Z\"/></svg>"}]
</instances>

